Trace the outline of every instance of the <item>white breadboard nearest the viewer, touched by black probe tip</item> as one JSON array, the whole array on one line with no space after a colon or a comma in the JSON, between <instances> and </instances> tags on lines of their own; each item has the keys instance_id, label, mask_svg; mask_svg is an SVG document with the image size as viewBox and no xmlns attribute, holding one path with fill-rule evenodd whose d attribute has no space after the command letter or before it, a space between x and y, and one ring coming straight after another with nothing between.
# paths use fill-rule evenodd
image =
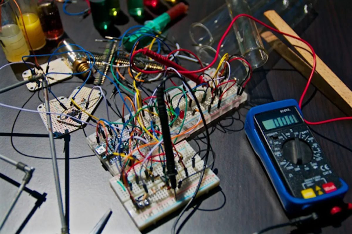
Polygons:
<instances>
[{"instance_id":1,"label":"white breadboard nearest the viewer, touched by black probe tip","mask_svg":"<svg viewBox=\"0 0 352 234\"><path fill-rule=\"evenodd\" d=\"M176 150L182 154L183 162L185 167L188 170L189 177L186 178L186 174L183 166L175 160L177 176L176 181L184 179L180 188L176 188L177 200L175 199L174 190L168 189L165 186L162 176L164 176L163 168L161 163L153 164L153 175L155 175L155 180L152 182L151 178L146 178L144 174L144 168L142 169L142 178L145 180L145 183L148 188L148 195L146 196L147 205L143 203L143 208L137 209L133 205L130 195L128 194L123 183L120 181L120 175L117 175L110 180L110 185L114 190L115 194L118 196L121 203L124 205L128 214L131 216L133 222L142 230L152 224L155 224L158 220L167 216L168 214L174 212L175 210L184 206L189 199L193 196L197 184L200 179L200 171L203 168L204 161L201 157L196 154L194 149L186 141L182 141L175 145ZM192 167L191 158L195 155L195 167ZM138 156L140 157L140 156ZM139 176L140 165L135 168L137 175ZM199 173L196 173L199 172ZM192 175L194 174L194 175ZM192 175L192 176L190 176ZM142 187L142 182L136 182L136 176L132 173L132 170L128 174L128 181L132 183L132 196L137 199L138 197L143 197L145 190ZM205 170L201 187L197 193L197 196L208 193L209 190L219 186L220 179L216 176L210 168ZM131 187L131 186L130 186Z\"/></svg>"}]
</instances>

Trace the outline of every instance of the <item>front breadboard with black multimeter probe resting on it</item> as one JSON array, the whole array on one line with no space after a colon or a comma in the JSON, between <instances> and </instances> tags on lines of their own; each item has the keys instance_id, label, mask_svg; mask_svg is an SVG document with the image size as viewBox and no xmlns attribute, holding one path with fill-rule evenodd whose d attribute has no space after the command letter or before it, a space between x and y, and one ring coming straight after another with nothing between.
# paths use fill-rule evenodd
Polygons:
<instances>
[{"instance_id":1,"label":"front breadboard with black multimeter probe resting on it","mask_svg":"<svg viewBox=\"0 0 352 234\"><path fill-rule=\"evenodd\" d=\"M189 149L190 152L191 151L194 152L194 150L190 147L190 145L186 141L183 141L181 143L186 149ZM194 154L192 154L191 156L188 156L188 158L192 157L193 155ZM188 167L186 166L188 169L189 175L197 171L200 171L203 168L204 162L200 159L199 155L196 155L196 157L197 157L197 162L195 163L194 168L191 165L189 165L189 163L187 163L187 165L189 165ZM179 167L180 165L178 165L178 168ZM186 177L185 171L183 169L179 170L176 177L177 181L185 177ZM146 206L139 210L136 209L131 199L129 199L128 193L124 191L124 188L118 182L120 180L119 175L111 178L110 185L113 188L115 194L118 196L121 203L124 205L128 214L131 216L134 223L136 223L136 226L140 230L142 230L147 226L150 226L153 223L156 223L164 216L184 206L184 204L186 204L189 201L189 199L193 196L196 186L199 182L199 178L200 178L200 173L197 173L191 177L188 177L185 181L183 181L182 186L180 188L176 188L177 200L175 200L175 195L173 190L168 190L165 187L162 188L164 186L164 182L162 182L161 180L155 181L153 183L149 183L147 187L149 190L150 204L149 206ZM136 181L132 179L133 178L129 180L132 183L133 196L138 196L143 194L144 193L143 189L140 189L139 191L136 191L136 192L134 191L134 188L138 188L139 185L137 185ZM207 168L197 196L207 193L210 189L215 188L219 184L220 184L219 178L213 173L212 170ZM126 197L126 194L127 194L127 197Z\"/></svg>"}]
</instances>

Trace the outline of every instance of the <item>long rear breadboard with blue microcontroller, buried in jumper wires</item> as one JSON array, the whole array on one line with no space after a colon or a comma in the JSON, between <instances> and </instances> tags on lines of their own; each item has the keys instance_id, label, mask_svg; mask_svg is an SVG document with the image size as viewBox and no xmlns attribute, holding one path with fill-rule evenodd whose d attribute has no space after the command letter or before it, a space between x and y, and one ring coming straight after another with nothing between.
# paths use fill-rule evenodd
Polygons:
<instances>
[{"instance_id":1,"label":"long rear breadboard with blue microcontroller, buried in jumper wires","mask_svg":"<svg viewBox=\"0 0 352 234\"><path fill-rule=\"evenodd\" d=\"M195 87L195 83L192 81L189 81L188 84L190 85L190 87ZM181 86L179 87L181 88ZM224 96L222 97L222 101L220 105L218 105L218 97L216 96L212 102L212 95L210 93L210 89L207 90L206 87L199 86L197 87L197 90L203 90L203 91L196 91L194 92L194 94L197 97L197 100L199 100L200 102L201 109L203 111L207 124L219 118L221 115L224 115L228 111L234 108L238 108L238 106L241 103L247 100L247 94L245 92L243 92L243 94L240 96L237 95L237 85L234 85L233 87L231 87L231 89L229 89L226 93L224 93ZM169 91L168 94L169 94L168 96L170 97L174 97L177 95L178 95L177 97L180 97L182 95L182 92L179 89L175 88ZM181 99L173 98L170 100L170 103L172 103L173 106L178 106L180 113L182 111L184 112L183 118L178 117L177 119L174 119L173 124L170 126L171 135L176 135L179 132L186 131L185 134L176 138L175 143L180 142L181 140L189 137L189 135L192 132L199 130L200 128L203 127L202 123L199 124L200 115L199 115L199 112L196 111L197 106L194 100L191 101L191 103L188 102L186 105L186 100L184 98L181 98ZM130 118L130 115L126 115L124 119L126 120L129 118ZM169 117L169 121L170 121L170 117ZM120 124L115 124L115 126L122 129L124 125L122 122L124 121L122 119L119 119L118 121L116 121L116 123L120 123ZM157 116L153 116L152 114L150 114L150 112L145 111L145 114L143 117L143 123L145 125L145 128L147 129L150 128L152 122L155 122L157 125L160 125L160 121ZM134 124L139 126L138 122ZM129 133L127 131L124 131L122 136L120 134L118 135L119 139L121 137L128 138ZM113 153L111 149L115 149L119 139L116 139L116 137L112 135L109 135L108 138L109 138L108 147L106 147L105 139L101 138L100 143L97 143L95 134L88 136L87 141L88 141L88 145L98 156L98 158L101 160L103 165L109 170L109 172L113 176L115 176L119 174L118 168L114 163L116 161L116 158L106 157L105 149L108 148L107 150L108 155L111 155ZM150 138L149 140L152 141L153 139Z\"/></svg>"}]
</instances>

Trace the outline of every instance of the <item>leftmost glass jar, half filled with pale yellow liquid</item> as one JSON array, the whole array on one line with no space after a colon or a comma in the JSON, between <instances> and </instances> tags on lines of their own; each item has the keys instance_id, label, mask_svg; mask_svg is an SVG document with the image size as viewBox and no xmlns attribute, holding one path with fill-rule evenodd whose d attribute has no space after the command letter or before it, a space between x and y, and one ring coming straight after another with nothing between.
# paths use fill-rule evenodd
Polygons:
<instances>
[{"instance_id":1,"label":"leftmost glass jar, half filled with pale yellow liquid","mask_svg":"<svg viewBox=\"0 0 352 234\"><path fill-rule=\"evenodd\" d=\"M8 0L0 4L0 11L0 43L6 59L10 62L22 61L23 56L29 55L29 50Z\"/></svg>"}]
</instances>

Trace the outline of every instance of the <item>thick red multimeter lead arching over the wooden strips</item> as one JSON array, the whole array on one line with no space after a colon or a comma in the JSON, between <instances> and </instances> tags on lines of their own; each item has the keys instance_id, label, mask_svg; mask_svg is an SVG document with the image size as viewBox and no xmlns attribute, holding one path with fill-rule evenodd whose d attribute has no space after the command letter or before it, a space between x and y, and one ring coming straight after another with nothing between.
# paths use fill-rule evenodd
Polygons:
<instances>
[{"instance_id":1,"label":"thick red multimeter lead arching over the wooden strips","mask_svg":"<svg viewBox=\"0 0 352 234\"><path fill-rule=\"evenodd\" d=\"M261 25L263 25L264 27L267 27L267 28L269 28L270 30L272 30L272 31L274 31L274 32L277 32L277 33L280 33L280 34L283 34L283 35L287 35L288 37L291 37L291 38L294 38L294 39L296 39L296 40L302 41L302 42L303 42L304 44L306 44L306 45L309 47L309 49L312 51L312 54L313 54L313 68L312 68L312 72L310 73L310 76L309 76L309 78L308 78L308 82L307 82L307 84L306 84L306 87L304 88L304 90L303 90L303 92L302 92L300 101L298 102L298 106L301 108L302 102L303 102L303 98L304 98L304 96L305 96L306 93L307 93L308 87L309 87L309 85L310 85L310 82L312 81L312 77L313 77L313 74L314 74L314 72L315 72L315 67L316 67L316 55L315 55L315 51L314 51L313 47L312 47L306 40L303 40L302 38L296 37L296 36L294 36L294 35L291 35L291 34L288 34L288 33L285 33L285 32L281 32L281 31L277 30L276 28L273 28L273 27L271 27L271 26L265 24L264 22L262 22L262 21L260 21L260 20L258 20L258 19L256 19L256 18L254 18L254 17L252 17L251 15L239 14L239 15L237 15L236 17L234 17L234 18L232 19L230 25L227 27L225 33L222 35L222 37L221 37L221 39L220 39L220 41L219 41L219 43L218 43L218 47L216 48L216 53L215 53L215 56L214 56L213 61L212 61L208 66L203 67L202 69L199 69L199 70L195 70L195 71L184 71L184 70L180 70L180 71L178 71L178 72L180 72L180 74L194 74L194 73L203 72L203 71L207 70L208 68L210 68L211 66L213 66L213 65L215 64L215 62L216 62L216 59L217 59L218 56L219 56L219 51L220 51L220 47L221 47L221 45L222 45L222 42L224 41L224 39L225 39L226 35L228 34L228 32L230 32L230 30L232 29L232 25L234 24L234 22L235 22L238 18L240 18L240 17L247 17L247 18L250 18L250 19L256 21L258 24L261 24ZM146 54L146 51L145 51L145 50L143 51L143 49L140 49L140 50L137 50L136 52L134 52L134 53L132 54L132 58L131 58L132 61L133 61L133 57L134 57L136 54L138 54L138 53L144 53L144 54ZM166 59L166 58L165 58L165 59ZM158 62L162 63L163 60L158 61ZM136 67L136 65L134 65L134 63L132 63L132 66L133 66L133 68L135 68L136 70L139 71L138 67ZM152 74L152 73L157 73L157 72L159 72L159 71L156 71L156 72L155 72L155 71L143 71L143 70L142 70L141 72ZM333 118L333 119L327 119L327 120L318 121L318 122L310 122L310 121L307 121L306 119L304 119L304 121L305 121L307 124L311 124L311 125L318 125L318 124L330 123L330 122L341 121L341 120L352 120L352 117L349 116L349 117Z\"/></svg>"}]
</instances>

